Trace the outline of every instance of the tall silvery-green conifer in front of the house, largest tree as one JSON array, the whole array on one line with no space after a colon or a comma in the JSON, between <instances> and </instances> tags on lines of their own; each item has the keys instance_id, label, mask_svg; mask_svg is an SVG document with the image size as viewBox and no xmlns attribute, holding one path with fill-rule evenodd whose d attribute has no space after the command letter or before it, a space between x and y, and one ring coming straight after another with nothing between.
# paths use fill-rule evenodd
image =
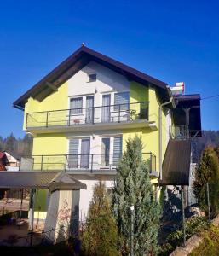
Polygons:
<instances>
[{"instance_id":1,"label":"tall silvery-green conifer in front of the house, largest tree","mask_svg":"<svg viewBox=\"0 0 219 256\"><path fill-rule=\"evenodd\" d=\"M134 206L134 253L156 254L161 210L149 177L147 163L142 156L140 137L129 139L123 160L118 165L118 176L112 193L112 206L123 237L124 254L130 254L131 212Z\"/></svg>"}]
</instances>

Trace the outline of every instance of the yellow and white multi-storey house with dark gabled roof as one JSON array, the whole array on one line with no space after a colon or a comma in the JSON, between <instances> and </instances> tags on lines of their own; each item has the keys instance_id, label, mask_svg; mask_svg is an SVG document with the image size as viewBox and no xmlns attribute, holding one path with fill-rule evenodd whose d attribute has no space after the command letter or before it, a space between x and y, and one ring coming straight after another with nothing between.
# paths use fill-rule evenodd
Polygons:
<instances>
[{"instance_id":1,"label":"yellow and white multi-storey house with dark gabled roof","mask_svg":"<svg viewBox=\"0 0 219 256\"><path fill-rule=\"evenodd\" d=\"M83 45L14 107L33 136L30 172L66 172L86 185L81 221L94 184L112 188L129 137L142 137L158 196L160 186L189 185L190 140L201 136L199 95L173 94L168 84ZM35 219L46 218L47 191L38 189Z\"/></svg>"}]
</instances>

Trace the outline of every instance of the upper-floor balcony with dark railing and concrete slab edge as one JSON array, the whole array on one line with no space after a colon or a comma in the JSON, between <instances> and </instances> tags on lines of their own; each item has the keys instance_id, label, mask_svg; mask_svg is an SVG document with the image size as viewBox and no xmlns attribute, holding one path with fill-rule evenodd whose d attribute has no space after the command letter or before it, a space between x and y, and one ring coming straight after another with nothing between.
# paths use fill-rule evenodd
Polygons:
<instances>
[{"instance_id":1,"label":"upper-floor balcony with dark railing and concrete slab edge","mask_svg":"<svg viewBox=\"0 0 219 256\"><path fill-rule=\"evenodd\" d=\"M26 113L26 130L89 131L149 126L149 102Z\"/></svg>"}]
</instances>

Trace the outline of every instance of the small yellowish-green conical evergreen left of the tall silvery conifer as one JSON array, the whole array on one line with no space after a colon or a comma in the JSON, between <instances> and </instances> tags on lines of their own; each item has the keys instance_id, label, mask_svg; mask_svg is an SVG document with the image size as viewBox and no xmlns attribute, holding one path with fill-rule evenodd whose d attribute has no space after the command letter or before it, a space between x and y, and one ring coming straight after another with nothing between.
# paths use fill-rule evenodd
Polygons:
<instances>
[{"instance_id":1,"label":"small yellowish-green conical evergreen left of the tall silvery conifer","mask_svg":"<svg viewBox=\"0 0 219 256\"><path fill-rule=\"evenodd\" d=\"M100 182L95 185L82 243L84 255L120 255L118 251L118 230L112 216L104 183Z\"/></svg>"}]
</instances>

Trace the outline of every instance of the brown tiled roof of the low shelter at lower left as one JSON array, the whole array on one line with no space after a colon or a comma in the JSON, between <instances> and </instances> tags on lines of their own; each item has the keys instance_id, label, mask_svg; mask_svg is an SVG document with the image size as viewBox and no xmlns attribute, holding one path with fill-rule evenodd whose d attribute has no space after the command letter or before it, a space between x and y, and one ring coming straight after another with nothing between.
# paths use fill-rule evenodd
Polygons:
<instances>
[{"instance_id":1,"label":"brown tiled roof of the low shelter at lower left","mask_svg":"<svg viewBox=\"0 0 219 256\"><path fill-rule=\"evenodd\" d=\"M0 172L0 189L86 189L66 172Z\"/></svg>"}]
</instances>

